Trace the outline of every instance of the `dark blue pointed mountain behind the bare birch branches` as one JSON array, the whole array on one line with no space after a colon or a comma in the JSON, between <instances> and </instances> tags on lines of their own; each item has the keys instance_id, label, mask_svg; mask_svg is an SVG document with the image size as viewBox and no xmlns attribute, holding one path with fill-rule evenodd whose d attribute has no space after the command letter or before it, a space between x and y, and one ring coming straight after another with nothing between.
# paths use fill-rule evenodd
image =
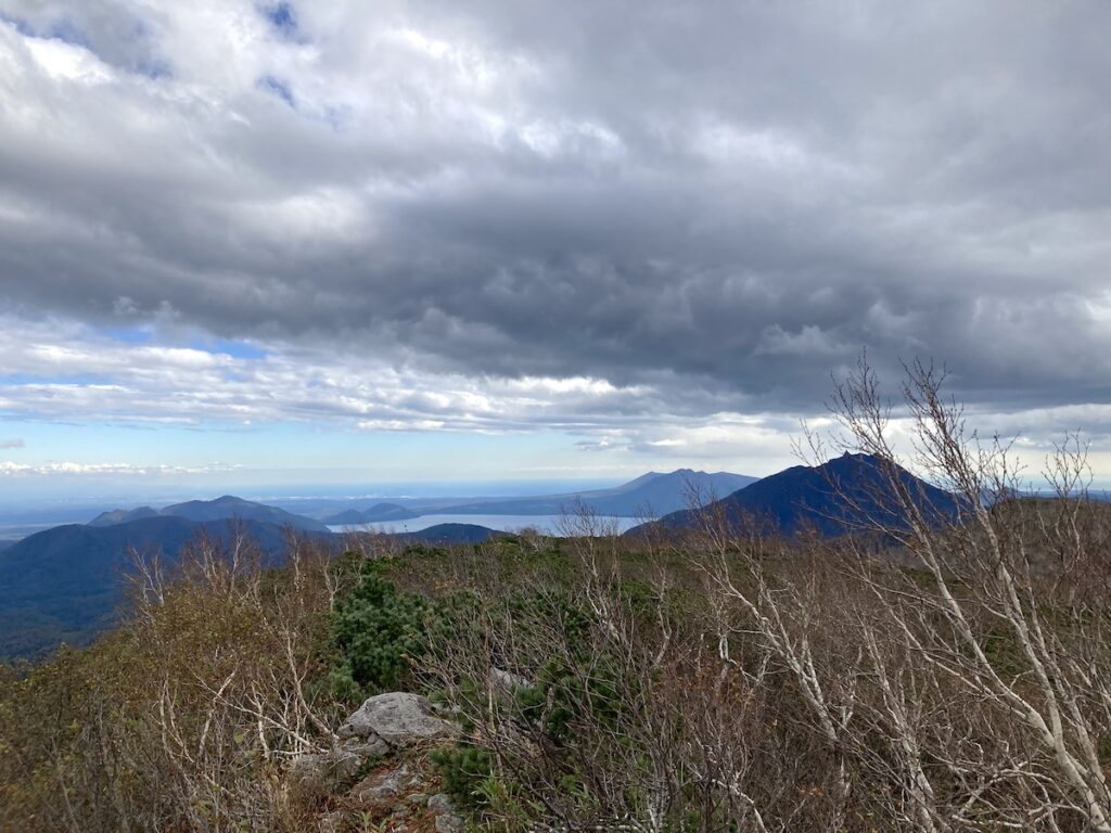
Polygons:
<instances>
[{"instance_id":1,"label":"dark blue pointed mountain behind the bare birch branches","mask_svg":"<svg viewBox=\"0 0 1111 833\"><path fill-rule=\"evenodd\" d=\"M768 533L793 535L812 529L828 538L882 524L905 528L907 518L889 488L884 462L868 454L844 454L822 465L795 465L730 494L709 506L734 525L749 524ZM893 465L889 463L888 465ZM949 492L897 468L902 485L928 522L955 519L960 502ZM674 512L659 522L664 529L697 526L699 515ZM642 533L651 524L630 530Z\"/></svg>"}]
</instances>

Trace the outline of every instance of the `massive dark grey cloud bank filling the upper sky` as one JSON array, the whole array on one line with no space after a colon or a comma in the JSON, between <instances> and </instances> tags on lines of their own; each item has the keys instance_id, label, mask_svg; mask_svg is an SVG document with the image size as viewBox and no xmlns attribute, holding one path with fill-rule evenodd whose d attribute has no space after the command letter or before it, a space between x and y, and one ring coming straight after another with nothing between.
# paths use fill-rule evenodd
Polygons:
<instances>
[{"instance_id":1,"label":"massive dark grey cloud bank filling the upper sky","mask_svg":"<svg viewBox=\"0 0 1111 833\"><path fill-rule=\"evenodd\" d=\"M0 2L0 294L673 411L863 347L1111 400L1111 7L360 6Z\"/></svg>"}]
</instances>

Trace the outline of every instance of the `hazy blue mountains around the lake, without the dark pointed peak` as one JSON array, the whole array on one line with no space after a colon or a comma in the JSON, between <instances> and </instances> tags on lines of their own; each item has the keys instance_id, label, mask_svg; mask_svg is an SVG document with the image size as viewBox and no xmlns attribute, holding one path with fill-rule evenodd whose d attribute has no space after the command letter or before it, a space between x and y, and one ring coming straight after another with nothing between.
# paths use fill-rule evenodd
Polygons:
<instances>
[{"instance_id":1,"label":"hazy blue mountains around the lake, without the dark pointed peak","mask_svg":"<svg viewBox=\"0 0 1111 833\"><path fill-rule=\"evenodd\" d=\"M80 643L108 626L123 601L121 576L128 549L158 550L177 556L201 532L226 538L237 519L280 561L286 531L340 541L332 526L409 521L422 514L543 515L574 512L578 506L600 515L651 516L701 500L729 494L753 481L740 474L708 474L690 469L649 472L629 483L580 493L540 498L489 498L407 506L379 502L314 519L277 506L224 495L163 509L140 506L103 512L88 524L54 526L0 550L0 656L28 654L61 641ZM398 538L432 544L479 542L503 534L474 524L439 524Z\"/></svg>"}]
</instances>

